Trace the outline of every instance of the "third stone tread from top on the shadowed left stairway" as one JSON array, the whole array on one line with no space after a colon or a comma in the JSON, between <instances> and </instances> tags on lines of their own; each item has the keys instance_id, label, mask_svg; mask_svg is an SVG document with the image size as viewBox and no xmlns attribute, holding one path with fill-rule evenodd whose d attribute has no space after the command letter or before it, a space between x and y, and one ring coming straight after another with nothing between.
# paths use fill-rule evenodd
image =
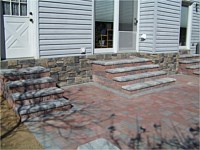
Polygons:
<instances>
[{"instance_id":1,"label":"third stone tread from top on the shadowed left stairway","mask_svg":"<svg viewBox=\"0 0 200 150\"><path fill-rule=\"evenodd\" d=\"M64 90L61 88L50 87L50 88L44 88L41 90L31 90L31 91L28 91L25 93L13 93L12 98L14 101L17 101L17 100L24 100L24 99L48 96L48 95L52 95L52 94L60 94L63 92L64 92Z\"/></svg>"}]
</instances>

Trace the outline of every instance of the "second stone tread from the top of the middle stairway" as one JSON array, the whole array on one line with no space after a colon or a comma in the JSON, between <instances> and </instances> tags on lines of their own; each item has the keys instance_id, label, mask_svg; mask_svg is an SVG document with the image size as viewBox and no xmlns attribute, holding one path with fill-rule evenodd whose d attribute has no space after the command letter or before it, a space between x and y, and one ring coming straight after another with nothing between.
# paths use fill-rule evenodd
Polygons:
<instances>
[{"instance_id":1,"label":"second stone tread from the top of the middle stairway","mask_svg":"<svg viewBox=\"0 0 200 150\"><path fill-rule=\"evenodd\" d=\"M144 69L153 69L153 68L158 68L158 67L159 65L142 65L142 66L134 66L134 67L107 69L106 72L114 74L114 73L122 73L122 72L137 71L137 70L144 70Z\"/></svg>"}]
</instances>

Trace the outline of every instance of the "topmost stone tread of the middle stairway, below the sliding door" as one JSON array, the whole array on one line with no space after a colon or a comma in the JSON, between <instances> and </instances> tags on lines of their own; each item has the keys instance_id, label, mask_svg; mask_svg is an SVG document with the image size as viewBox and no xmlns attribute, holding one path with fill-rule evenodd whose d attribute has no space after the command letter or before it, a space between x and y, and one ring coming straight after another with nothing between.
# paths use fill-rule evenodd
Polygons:
<instances>
[{"instance_id":1,"label":"topmost stone tread of the middle stairway, below the sliding door","mask_svg":"<svg viewBox=\"0 0 200 150\"><path fill-rule=\"evenodd\" d=\"M99 60L93 61L93 64L109 66L109 65L120 65L120 64L131 64L131 63L141 63L149 62L149 59L146 58L134 58L134 59L119 59L119 60Z\"/></svg>"}]
</instances>

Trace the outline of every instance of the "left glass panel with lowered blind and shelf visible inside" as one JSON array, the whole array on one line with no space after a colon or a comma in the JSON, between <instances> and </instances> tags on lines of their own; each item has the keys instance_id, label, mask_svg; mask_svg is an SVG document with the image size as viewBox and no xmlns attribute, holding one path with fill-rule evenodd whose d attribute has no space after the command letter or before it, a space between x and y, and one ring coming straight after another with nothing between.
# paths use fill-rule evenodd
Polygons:
<instances>
[{"instance_id":1,"label":"left glass panel with lowered blind and shelf visible inside","mask_svg":"<svg viewBox=\"0 0 200 150\"><path fill-rule=\"evenodd\" d=\"M114 0L95 0L95 48L113 48Z\"/></svg>"}]
</instances>

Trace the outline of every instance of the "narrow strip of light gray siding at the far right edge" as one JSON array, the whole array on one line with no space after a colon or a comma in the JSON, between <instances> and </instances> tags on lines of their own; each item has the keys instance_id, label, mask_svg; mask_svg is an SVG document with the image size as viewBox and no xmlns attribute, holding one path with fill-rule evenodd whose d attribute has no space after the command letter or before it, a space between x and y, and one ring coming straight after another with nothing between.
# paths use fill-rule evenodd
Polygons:
<instances>
[{"instance_id":1,"label":"narrow strip of light gray siding at the far right edge","mask_svg":"<svg viewBox=\"0 0 200 150\"><path fill-rule=\"evenodd\" d=\"M196 3L198 2L198 12L196 12ZM200 2L199 0L194 0L193 3L193 13L192 13L192 35L191 35L191 45L190 50L192 53L196 52L196 45L200 42Z\"/></svg>"}]
</instances>

